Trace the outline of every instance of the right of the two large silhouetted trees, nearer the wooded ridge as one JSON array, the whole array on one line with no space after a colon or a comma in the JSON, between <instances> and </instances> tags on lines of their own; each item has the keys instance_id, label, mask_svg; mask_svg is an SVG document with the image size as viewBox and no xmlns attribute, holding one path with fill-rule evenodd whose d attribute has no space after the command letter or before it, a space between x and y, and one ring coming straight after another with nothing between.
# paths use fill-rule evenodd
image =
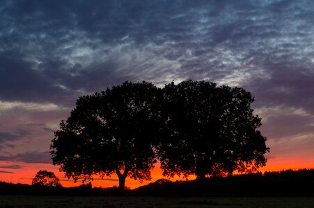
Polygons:
<instances>
[{"instance_id":1,"label":"right of the two large silhouetted trees, nearer the wooded ridge","mask_svg":"<svg viewBox=\"0 0 314 208\"><path fill-rule=\"evenodd\" d=\"M229 175L265 166L269 150L258 130L249 92L205 81L170 83L163 89L164 175Z\"/></svg>"}]
</instances>

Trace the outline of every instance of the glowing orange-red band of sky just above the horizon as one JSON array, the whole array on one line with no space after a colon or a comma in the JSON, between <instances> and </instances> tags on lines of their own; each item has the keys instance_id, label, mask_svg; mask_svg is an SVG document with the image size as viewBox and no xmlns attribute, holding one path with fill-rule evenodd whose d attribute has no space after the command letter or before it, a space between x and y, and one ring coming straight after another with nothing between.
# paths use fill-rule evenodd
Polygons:
<instances>
[{"instance_id":1,"label":"glowing orange-red band of sky just above the horizon","mask_svg":"<svg viewBox=\"0 0 314 208\"><path fill-rule=\"evenodd\" d=\"M17 162L15 162L17 164ZM12 165L10 162L0 162L0 166L10 166ZM13 182L17 183L20 182L22 184L31 184L31 180L36 175L39 170L47 170L53 171L59 179L61 179L61 184L63 187L73 187L79 186L81 182L74 183L72 180L68 180L68 178L64 177L64 174L58 171L58 166L53 166L52 164L27 164L27 163L19 163L19 166L22 168L17 169L3 169L0 170L0 180L4 182ZM300 168L314 168L314 159L309 158L302 158L302 157L291 157L291 158L284 158L284 157L277 157L277 158L270 158L268 159L267 166L260 168L260 171L281 171L285 169L300 169ZM2 173L2 172L9 172L9 173ZM126 186L134 189L144 184L148 184L150 182L155 182L155 180L162 178L162 170L159 166L155 167L152 170L152 180L144 181L140 183L139 181L132 180L127 178ZM194 179L194 177L190 177ZM180 177L170 178L171 180L182 180ZM106 177L103 180L100 178L95 177L95 180L92 182L93 187L113 187L118 186L118 180L116 175L112 175L112 177Z\"/></svg>"}]
</instances>

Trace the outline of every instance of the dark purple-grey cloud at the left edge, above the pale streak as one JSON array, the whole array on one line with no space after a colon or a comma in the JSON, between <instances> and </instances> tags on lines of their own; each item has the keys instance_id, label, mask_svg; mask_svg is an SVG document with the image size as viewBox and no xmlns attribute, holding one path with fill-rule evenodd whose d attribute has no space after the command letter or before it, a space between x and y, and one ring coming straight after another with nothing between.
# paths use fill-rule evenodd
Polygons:
<instances>
[{"instance_id":1,"label":"dark purple-grey cloud at the left edge, above the pale streak","mask_svg":"<svg viewBox=\"0 0 314 208\"><path fill-rule=\"evenodd\" d=\"M63 92L64 90L56 85L57 79L49 78L45 73L33 69L33 63L22 60L25 54L15 53L8 58L7 56L0 53L1 100L60 103L58 99L63 97L64 101L67 101L68 92ZM54 67L58 72L60 67Z\"/></svg>"}]
</instances>

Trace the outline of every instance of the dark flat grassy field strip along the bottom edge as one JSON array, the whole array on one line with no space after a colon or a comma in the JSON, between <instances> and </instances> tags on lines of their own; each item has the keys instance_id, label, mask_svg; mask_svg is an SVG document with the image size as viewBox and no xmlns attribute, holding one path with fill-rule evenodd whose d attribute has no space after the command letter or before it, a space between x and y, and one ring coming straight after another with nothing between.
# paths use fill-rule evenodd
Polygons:
<instances>
[{"instance_id":1,"label":"dark flat grassy field strip along the bottom edge","mask_svg":"<svg viewBox=\"0 0 314 208\"><path fill-rule=\"evenodd\" d=\"M0 207L314 207L313 197L70 197L0 196Z\"/></svg>"}]
</instances>

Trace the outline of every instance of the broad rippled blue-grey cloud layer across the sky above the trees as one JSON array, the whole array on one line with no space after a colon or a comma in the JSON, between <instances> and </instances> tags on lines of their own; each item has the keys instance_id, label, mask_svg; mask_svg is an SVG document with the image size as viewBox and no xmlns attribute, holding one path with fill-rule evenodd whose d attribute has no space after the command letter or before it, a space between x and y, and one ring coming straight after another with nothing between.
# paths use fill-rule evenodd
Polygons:
<instances>
[{"instance_id":1,"label":"broad rippled blue-grey cloud layer across the sky above the trees","mask_svg":"<svg viewBox=\"0 0 314 208\"><path fill-rule=\"evenodd\" d=\"M0 40L15 44L3 48L0 95L11 101L70 104L127 79L242 85L272 73L265 62L311 66L308 1L8 2Z\"/></svg>"}]
</instances>

